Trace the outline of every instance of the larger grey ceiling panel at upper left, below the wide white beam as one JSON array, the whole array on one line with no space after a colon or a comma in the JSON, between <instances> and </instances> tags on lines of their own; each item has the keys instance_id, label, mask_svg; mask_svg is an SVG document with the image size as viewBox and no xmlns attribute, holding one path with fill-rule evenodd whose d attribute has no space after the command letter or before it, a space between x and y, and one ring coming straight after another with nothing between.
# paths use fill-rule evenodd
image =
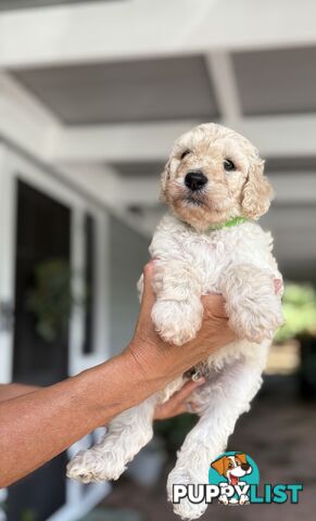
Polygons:
<instances>
[{"instance_id":1,"label":"larger grey ceiling panel at upper left, below the wide white beam","mask_svg":"<svg viewBox=\"0 0 316 521\"><path fill-rule=\"evenodd\" d=\"M217 117L202 56L12 74L68 125Z\"/></svg>"}]
</instances>

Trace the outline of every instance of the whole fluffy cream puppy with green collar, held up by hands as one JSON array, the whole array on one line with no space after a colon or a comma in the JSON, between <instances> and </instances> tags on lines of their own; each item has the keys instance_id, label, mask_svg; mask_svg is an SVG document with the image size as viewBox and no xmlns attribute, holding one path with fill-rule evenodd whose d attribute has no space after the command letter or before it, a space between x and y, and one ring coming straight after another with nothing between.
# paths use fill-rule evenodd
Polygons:
<instances>
[{"instance_id":1,"label":"whole fluffy cream puppy with green collar, held up by hands","mask_svg":"<svg viewBox=\"0 0 316 521\"><path fill-rule=\"evenodd\" d=\"M222 293L238 339L191 371L207 381L193 395L201 418L168 476L170 500L173 484L207 483L210 460L225 450L237 419L249 410L273 334L283 321L282 277L271 253L273 238L255 223L273 195L263 167L250 141L220 125L205 124L175 142L162 175L162 198L170 213L150 245L156 259L152 309L156 330L166 342L180 346L201 327L201 296ZM167 399L186 379L179 374L163 393L115 418L98 446L71 461L68 476L85 483L117 480L151 440L156 403ZM174 505L184 519L197 519L205 508L188 499Z\"/></svg>"}]
</instances>

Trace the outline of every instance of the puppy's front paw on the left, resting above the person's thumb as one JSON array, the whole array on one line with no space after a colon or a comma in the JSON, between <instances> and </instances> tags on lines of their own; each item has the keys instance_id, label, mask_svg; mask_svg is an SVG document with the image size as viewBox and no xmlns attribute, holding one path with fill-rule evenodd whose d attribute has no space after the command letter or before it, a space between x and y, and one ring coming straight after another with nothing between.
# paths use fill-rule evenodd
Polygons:
<instances>
[{"instance_id":1,"label":"puppy's front paw on the left, resting above the person's thumb","mask_svg":"<svg viewBox=\"0 0 316 521\"><path fill-rule=\"evenodd\" d=\"M182 345L194 339L201 328L203 306L200 300L157 300L152 308L156 331L166 342Z\"/></svg>"}]
</instances>

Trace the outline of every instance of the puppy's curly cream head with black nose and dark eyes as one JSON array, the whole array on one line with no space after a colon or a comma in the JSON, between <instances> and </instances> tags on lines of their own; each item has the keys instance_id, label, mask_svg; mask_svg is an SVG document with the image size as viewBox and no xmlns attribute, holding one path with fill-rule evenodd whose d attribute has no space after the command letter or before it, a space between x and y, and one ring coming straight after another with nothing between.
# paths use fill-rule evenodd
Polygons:
<instances>
[{"instance_id":1,"label":"puppy's curly cream head with black nose and dark eyes","mask_svg":"<svg viewBox=\"0 0 316 521\"><path fill-rule=\"evenodd\" d=\"M220 125L200 125L175 142L162 175L162 200L201 231L237 216L256 219L273 195L263 168L248 139Z\"/></svg>"}]
</instances>

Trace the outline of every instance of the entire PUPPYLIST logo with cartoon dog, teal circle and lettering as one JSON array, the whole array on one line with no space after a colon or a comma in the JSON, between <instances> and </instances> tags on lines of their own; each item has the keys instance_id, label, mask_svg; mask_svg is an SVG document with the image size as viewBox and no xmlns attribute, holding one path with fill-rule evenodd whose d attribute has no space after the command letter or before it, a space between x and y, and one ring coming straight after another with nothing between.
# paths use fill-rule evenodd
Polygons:
<instances>
[{"instance_id":1,"label":"entire PUPPYLIST logo with cartoon dog, teal circle and lettering","mask_svg":"<svg viewBox=\"0 0 316 521\"><path fill-rule=\"evenodd\" d=\"M222 505L299 503L302 483L265 483L258 492L260 471L255 461L245 453L227 452L211 461L208 484L174 484L173 501L181 499Z\"/></svg>"}]
</instances>

